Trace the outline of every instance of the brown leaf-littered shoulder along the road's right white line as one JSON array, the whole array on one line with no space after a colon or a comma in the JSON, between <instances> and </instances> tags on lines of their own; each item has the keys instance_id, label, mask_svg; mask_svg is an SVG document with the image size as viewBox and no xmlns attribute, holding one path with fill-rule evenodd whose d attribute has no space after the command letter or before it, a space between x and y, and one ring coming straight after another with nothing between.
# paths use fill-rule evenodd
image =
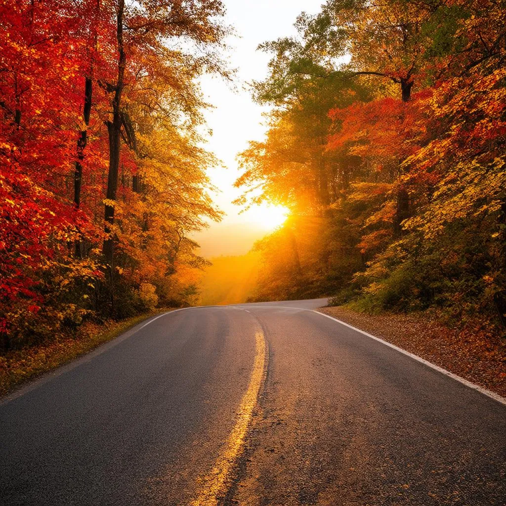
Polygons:
<instances>
[{"instance_id":1,"label":"brown leaf-littered shoulder along the road's right white line","mask_svg":"<svg viewBox=\"0 0 506 506\"><path fill-rule=\"evenodd\" d=\"M499 337L451 329L424 314L369 315L342 306L318 311L506 397L506 346Z\"/></svg>"}]
</instances>

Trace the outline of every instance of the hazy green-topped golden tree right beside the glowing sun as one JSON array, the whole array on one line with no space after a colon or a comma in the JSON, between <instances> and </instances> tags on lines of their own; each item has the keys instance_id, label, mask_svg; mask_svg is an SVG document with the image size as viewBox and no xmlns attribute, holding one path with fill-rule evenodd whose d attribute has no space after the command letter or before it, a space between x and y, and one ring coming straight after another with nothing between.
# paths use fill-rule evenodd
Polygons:
<instances>
[{"instance_id":1,"label":"hazy green-topped golden tree right beside the glowing sun","mask_svg":"<svg viewBox=\"0 0 506 506\"><path fill-rule=\"evenodd\" d=\"M287 271L283 272L291 272L290 281L280 277L276 286L289 283L290 297L302 294L303 287L314 290L311 292L314 294L328 286L331 279L351 275L360 265L360 255L349 241L349 227L340 226L343 208L348 205L343 200L360 170L360 160L345 150L327 149L332 126L328 112L356 99L366 100L369 95L361 82L347 78L338 62L308 44L306 16L299 17L297 27L298 37L278 39L260 47L273 57L267 78L254 84L254 96L274 109L269 115L265 141L251 142L240 153L243 174L236 182L236 186L245 189L237 203L267 200L282 203L291 210L292 219L281 231L266 238L260 249L266 256L271 248L275 249L275 244L286 251ZM357 234L351 235L356 243ZM308 239L313 241L313 256L303 254L306 248L310 251ZM344 262L335 255L336 249L350 253ZM279 268L271 272L275 271L281 272ZM275 297L273 293L274 290L270 297ZM288 296L286 291L283 293Z\"/></svg>"}]
</instances>

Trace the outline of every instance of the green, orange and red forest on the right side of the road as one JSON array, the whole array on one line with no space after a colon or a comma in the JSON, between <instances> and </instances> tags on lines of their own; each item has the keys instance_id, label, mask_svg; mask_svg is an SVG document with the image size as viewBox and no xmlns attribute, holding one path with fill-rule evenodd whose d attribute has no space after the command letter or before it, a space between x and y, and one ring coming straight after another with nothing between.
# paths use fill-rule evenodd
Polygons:
<instances>
[{"instance_id":1,"label":"green, orange and red forest on the right side of the road","mask_svg":"<svg viewBox=\"0 0 506 506\"><path fill-rule=\"evenodd\" d=\"M290 216L256 245L251 300L504 326L505 18L488 0L328 0L261 46L254 95L273 108L238 203Z\"/></svg>"}]
</instances>

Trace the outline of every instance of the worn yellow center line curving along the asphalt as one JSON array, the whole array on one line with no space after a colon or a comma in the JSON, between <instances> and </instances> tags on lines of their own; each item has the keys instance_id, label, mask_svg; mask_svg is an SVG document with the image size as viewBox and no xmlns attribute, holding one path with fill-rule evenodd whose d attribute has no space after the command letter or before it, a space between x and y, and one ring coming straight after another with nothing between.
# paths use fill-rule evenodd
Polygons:
<instances>
[{"instance_id":1,"label":"worn yellow center line curving along the asphalt","mask_svg":"<svg viewBox=\"0 0 506 506\"><path fill-rule=\"evenodd\" d=\"M255 334L255 362L246 393L237 410L235 426L227 440L225 450L216 460L213 470L203 479L203 486L192 506L215 506L230 488L232 471L244 445L253 410L262 386L264 368L267 361L267 347L264 334Z\"/></svg>"}]
</instances>

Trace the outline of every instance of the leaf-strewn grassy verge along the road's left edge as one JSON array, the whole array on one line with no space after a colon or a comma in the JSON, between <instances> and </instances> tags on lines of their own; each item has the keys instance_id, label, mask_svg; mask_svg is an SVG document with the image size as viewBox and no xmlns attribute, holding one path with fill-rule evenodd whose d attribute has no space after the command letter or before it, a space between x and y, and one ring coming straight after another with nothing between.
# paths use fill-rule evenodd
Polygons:
<instances>
[{"instance_id":1,"label":"leaf-strewn grassy verge along the road's left edge","mask_svg":"<svg viewBox=\"0 0 506 506\"><path fill-rule=\"evenodd\" d=\"M39 345L8 351L0 356L0 397L37 376L56 369L117 338L141 321L171 309L157 309L121 321L83 323L75 335L59 336Z\"/></svg>"}]
</instances>

